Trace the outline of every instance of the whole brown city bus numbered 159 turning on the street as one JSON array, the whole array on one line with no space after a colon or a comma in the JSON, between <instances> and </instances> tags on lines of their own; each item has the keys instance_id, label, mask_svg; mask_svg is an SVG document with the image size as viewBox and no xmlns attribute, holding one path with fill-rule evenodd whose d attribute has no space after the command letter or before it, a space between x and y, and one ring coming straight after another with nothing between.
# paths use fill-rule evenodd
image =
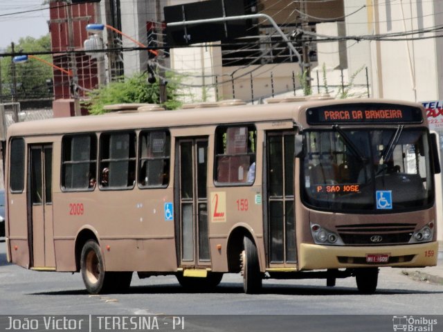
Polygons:
<instances>
[{"instance_id":1,"label":"whole brown city bus numbered 159 turning on the street","mask_svg":"<svg viewBox=\"0 0 443 332\"><path fill-rule=\"evenodd\" d=\"M13 124L8 261L90 293L176 275L211 288L437 264L435 136L419 104L323 100Z\"/></svg>"}]
</instances>

